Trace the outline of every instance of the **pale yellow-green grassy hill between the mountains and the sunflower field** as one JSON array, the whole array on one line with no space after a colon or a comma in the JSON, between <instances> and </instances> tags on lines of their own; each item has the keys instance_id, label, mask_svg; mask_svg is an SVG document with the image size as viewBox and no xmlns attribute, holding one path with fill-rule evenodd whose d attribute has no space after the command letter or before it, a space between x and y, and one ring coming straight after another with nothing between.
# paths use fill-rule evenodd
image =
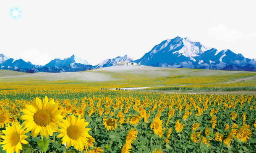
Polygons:
<instances>
[{"instance_id":1,"label":"pale yellow-green grassy hill between the mountains and the sunflower field","mask_svg":"<svg viewBox=\"0 0 256 153\"><path fill-rule=\"evenodd\" d=\"M81 83L90 87L124 88L232 83L233 81L237 82L248 78L248 81L250 81L250 79L255 77L255 72L247 71L176 69L151 66L111 66L83 72L5 76L0 77L0 82L3 84L15 82L21 85ZM255 82L251 83L255 85Z\"/></svg>"}]
</instances>

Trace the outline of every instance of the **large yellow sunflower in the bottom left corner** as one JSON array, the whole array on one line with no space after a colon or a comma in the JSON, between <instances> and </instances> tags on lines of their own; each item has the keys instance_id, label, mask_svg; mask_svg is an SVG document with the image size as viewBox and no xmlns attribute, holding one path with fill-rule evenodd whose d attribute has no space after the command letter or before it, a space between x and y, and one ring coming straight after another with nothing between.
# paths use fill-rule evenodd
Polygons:
<instances>
[{"instance_id":1,"label":"large yellow sunflower in the bottom left corner","mask_svg":"<svg viewBox=\"0 0 256 153\"><path fill-rule=\"evenodd\" d=\"M22 150L21 143L28 144L25 140L28 136L24 135L26 133L24 129L25 127L22 127L19 122L12 123L11 126L8 124L3 130L5 135L1 135L4 140L0 143L3 145L3 150L6 150L7 153L13 153L14 151L20 153L20 150Z\"/></svg>"}]
</instances>

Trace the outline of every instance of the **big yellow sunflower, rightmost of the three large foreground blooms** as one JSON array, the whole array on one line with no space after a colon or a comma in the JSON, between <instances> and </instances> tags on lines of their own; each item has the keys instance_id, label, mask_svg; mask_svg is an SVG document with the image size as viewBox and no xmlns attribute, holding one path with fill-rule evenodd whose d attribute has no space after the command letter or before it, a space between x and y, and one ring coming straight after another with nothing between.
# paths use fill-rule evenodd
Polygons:
<instances>
[{"instance_id":1,"label":"big yellow sunflower, rightmost of the three large foreground blooms","mask_svg":"<svg viewBox=\"0 0 256 153\"><path fill-rule=\"evenodd\" d=\"M66 143L67 148L73 146L77 150L84 148L84 145L88 144L89 137L88 131L91 130L86 128L88 122L81 119L81 116L75 117L74 115L69 115L66 120L63 120L59 127L57 138L62 138L62 144Z\"/></svg>"}]
</instances>

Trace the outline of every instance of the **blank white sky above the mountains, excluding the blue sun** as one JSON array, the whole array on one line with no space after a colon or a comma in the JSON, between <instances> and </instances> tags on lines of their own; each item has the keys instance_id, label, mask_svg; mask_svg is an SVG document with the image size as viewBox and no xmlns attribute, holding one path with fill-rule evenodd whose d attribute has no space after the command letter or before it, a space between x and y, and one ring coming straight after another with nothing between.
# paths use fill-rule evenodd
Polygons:
<instances>
[{"instance_id":1,"label":"blank white sky above the mountains, excluding the blue sun","mask_svg":"<svg viewBox=\"0 0 256 153\"><path fill-rule=\"evenodd\" d=\"M77 54L90 64L141 58L168 39L189 37L256 58L254 1L1 0L0 54L47 64ZM22 10L21 18L10 9Z\"/></svg>"}]
</instances>

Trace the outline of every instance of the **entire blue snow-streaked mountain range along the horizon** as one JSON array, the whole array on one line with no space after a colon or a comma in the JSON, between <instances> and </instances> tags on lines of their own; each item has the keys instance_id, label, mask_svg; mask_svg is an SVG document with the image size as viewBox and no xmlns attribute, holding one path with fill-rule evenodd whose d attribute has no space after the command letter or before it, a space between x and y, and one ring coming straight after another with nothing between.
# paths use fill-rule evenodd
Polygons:
<instances>
[{"instance_id":1,"label":"entire blue snow-streaked mountain range along the horizon","mask_svg":"<svg viewBox=\"0 0 256 153\"><path fill-rule=\"evenodd\" d=\"M113 66L119 62L136 62L146 66L160 66L189 69L218 69L232 71L256 71L256 59L245 58L229 49L218 51L208 48L190 38L175 37L162 41L147 52L141 59L133 60L128 55L106 59L96 66L72 55L65 59L53 59L48 64L34 65L22 59L14 60L0 54L0 69L23 72L71 72Z\"/></svg>"}]
</instances>

